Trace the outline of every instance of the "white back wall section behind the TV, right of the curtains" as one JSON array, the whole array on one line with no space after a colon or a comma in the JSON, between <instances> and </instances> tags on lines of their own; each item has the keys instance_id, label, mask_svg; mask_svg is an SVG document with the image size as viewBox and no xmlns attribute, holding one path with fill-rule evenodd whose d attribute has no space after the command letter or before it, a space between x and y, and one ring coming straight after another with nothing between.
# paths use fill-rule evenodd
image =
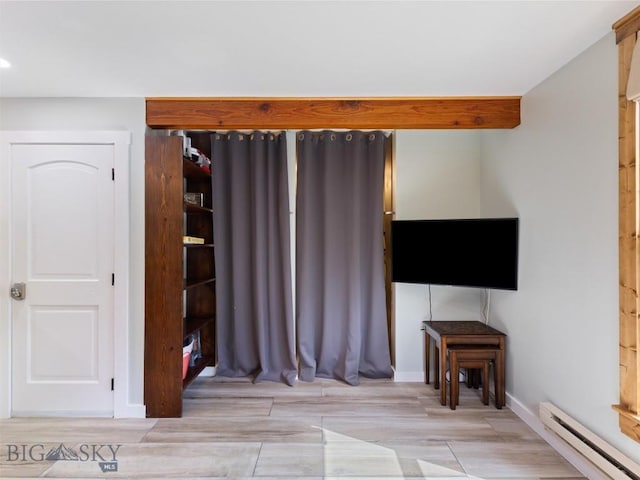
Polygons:
<instances>
[{"instance_id":1,"label":"white back wall section behind the TV, right of the curtains","mask_svg":"<svg viewBox=\"0 0 640 480\"><path fill-rule=\"evenodd\" d=\"M480 134L465 130L399 130L395 141L395 219L480 215ZM396 379L422 381L426 285L395 285ZM434 320L480 319L483 291L431 287Z\"/></svg>"}]
</instances>

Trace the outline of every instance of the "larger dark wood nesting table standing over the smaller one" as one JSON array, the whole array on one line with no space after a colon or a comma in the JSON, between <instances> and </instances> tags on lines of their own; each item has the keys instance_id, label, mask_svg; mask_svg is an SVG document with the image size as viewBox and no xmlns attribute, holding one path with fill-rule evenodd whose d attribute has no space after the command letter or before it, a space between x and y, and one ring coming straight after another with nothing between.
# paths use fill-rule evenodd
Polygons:
<instances>
[{"instance_id":1,"label":"larger dark wood nesting table standing over the smaller one","mask_svg":"<svg viewBox=\"0 0 640 480\"><path fill-rule=\"evenodd\" d=\"M499 349L494 368L496 378L496 407L502 408L506 404L505 395L505 337L506 335L493 327L477 320L454 321L424 321L424 382L429 383L429 359L431 356L431 341L436 347L434 358L435 379L434 388L440 388L440 379L444 383L447 371L447 345L491 345ZM440 403L447 404L447 388L440 389Z\"/></svg>"}]
</instances>

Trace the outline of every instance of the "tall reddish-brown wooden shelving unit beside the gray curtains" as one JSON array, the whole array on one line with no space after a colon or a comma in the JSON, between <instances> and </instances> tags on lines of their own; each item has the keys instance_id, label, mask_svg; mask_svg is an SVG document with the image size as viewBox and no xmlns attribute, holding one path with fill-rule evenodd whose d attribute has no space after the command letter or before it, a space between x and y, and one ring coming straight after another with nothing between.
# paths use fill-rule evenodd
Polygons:
<instances>
[{"instance_id":1,"label":"tall reddish-brown wooden shelving unit beside the gray curtains","mask_svg":"<svg viewBox=\"0 0 640 480\"><path fill-rule=\"evenodd\" d=\"M194 136L210 156L208 136ZM148 417L180 417L183 389L215 364L211 175L183 157L181 137L148 136L145 146L145 405ZM185 192L203 205L184 202ZM184 235L204 243L183 244ZM194 334L201 356L183 379L182 347Z\"/></svg>"}]
</instances>

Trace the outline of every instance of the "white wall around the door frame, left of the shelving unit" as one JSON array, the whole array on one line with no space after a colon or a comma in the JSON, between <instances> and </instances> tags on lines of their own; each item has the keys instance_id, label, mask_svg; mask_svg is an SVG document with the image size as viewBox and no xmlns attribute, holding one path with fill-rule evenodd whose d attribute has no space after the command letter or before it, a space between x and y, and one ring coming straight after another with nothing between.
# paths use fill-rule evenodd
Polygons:
<instances>
[{"instance_id":1,"label":"white wall around the door frame, left of the shelving unit","mask_svg":"<svg viewBox=\"0 0 640 480\"><path fill-rule=\"evenodd\" d=\"M0 98L0 130L131 132L129 403L132 405L143 403L145 123L143 98Z\"/></svg>"}]
</instances>

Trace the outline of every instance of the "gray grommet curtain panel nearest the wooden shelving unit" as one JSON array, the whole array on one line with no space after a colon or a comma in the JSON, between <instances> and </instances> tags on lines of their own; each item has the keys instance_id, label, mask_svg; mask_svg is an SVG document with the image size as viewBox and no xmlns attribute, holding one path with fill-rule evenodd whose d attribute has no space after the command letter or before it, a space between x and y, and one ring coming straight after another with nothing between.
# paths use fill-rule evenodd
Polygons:
<instances>
[{"instance_id":1,"label":"gray grommet curtain panel nearest the wooden shelving unit","mask_svg":"<svg viewBox=\"0 0 640 480\"><path fill-rule=\"evenodd\" d=\"M218 374L292 385L297 374L284 133L214 133Z\"/></svg>"}]
</instances>

